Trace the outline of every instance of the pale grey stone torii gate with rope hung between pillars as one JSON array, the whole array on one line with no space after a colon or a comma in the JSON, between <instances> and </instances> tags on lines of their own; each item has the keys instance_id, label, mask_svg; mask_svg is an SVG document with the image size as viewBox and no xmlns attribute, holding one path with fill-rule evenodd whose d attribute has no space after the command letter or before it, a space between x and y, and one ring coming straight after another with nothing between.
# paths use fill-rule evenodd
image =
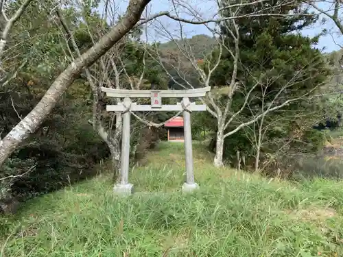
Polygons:
<instances>
[{"instance_id":1,"label":"pale grey stone torii gate with rope hung between pillars","mask_svg":"<svg viewBox=\"0 0 343 257\"><path fill-rule=\"evenodd\" d=\"M186 160L186 178L182 191L193 191L198 188L194 181L193 173L193 150L191 138L191 112L205 111L206 105L197 105L191 103L189 97L204 97L211 87L196 88L189 90L127 90L102 87L108 97L123 98L123 102L117 105L108 105L108 112L121 112L123 114L123 133L121 140L121 162L120 178L115 184L113 191L119 194L130 195L133 192L133 185L128 182L129 158L130 158L130 112L147 111L179 111L183 113L184 132L185 132L185 160ZM131 101L132 98L151 98L150 105L137 105ZM182 98L176 105L163 105L162 98Z\"/></svg>"}]
</instances>

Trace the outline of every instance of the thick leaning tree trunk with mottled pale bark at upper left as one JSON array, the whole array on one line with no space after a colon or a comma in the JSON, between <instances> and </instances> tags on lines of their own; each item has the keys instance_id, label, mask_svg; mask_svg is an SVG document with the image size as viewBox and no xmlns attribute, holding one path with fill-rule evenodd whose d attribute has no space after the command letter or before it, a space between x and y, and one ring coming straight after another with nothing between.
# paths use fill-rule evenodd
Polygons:
<instances>
[{"instance_id":1,"label":"thick leaning tree trunk with mottled pale bark at upper left","mask_svg":"<svg viewBox=\"0 0 343 257\"><path fill-rule=\"evenodd\" d=\"M0 167L5 160L14 152L16 147L34 133L44 119L60 100L63 93L71 86L75 76L82 69L93 64L116 42L125 36L139 21L141 14L151 0L130 0L126 14L104 37L102 37L91 49L88 49L65 69L51 84L43 98L27 116L18 123L5 138L0 141Z\"/></svg>"}]
</instances>

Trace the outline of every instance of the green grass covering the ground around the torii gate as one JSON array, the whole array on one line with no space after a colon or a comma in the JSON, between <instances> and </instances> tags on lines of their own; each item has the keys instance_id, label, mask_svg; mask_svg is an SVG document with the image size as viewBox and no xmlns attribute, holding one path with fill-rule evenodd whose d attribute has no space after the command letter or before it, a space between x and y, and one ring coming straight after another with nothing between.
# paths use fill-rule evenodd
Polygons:
<instances>
[{"instance_id":1,"label":"green grass covering the ground around the torii gate","mask_svg":"<svg viewBox=\"0 0 343 257\"><path fill-rule=\"evenodd\" d=\"M215 169L202 145L193 149L197 193L180 192L182 144L161 143L133 169L131 197L114 197L102 171L2 218L0 255L342 256L343 182Z\"/></svg>"}]
</instances>

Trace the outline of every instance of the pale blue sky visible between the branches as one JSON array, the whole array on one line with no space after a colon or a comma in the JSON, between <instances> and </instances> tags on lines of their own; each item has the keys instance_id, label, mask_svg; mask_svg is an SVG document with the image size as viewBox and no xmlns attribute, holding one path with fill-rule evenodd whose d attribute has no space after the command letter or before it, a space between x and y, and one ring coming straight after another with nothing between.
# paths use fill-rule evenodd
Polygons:
<instances>
[{"instance_id":1,"label":"pale blue sky visible between the branches","mask_svg":"<svg viewBox=\"0 0 343 257\"><path fill-rule=\"evenodd\" d=\"M186 7L191 9L193 12L195 11L198 16L201 16L202 19L211 19L216 13L216 5L214 0L174 0L176 5L176 10L179 12L179 16L185 19L192 19L192 15L190 15L189 10L186 10ZM123 14L128 6L128 0L121 0L116 1L118 13ZM184 5L184 6L181 6ZM323 10L329 10L330 6L327 3L319 3L319 8ZM101 9L102 6L99 7ZM156 14L158 12L163 11L171 11L175 14L173 3L171 0L152 0L150 4L147 6L147 12L143 14L143 16L150 16L152 14ZM322 19L324 15L320 16ZM212 25L213 26L213 25ZM305 36L316 36L318 35L322 29L327 29L331 34L327 36L322 36L319 40L318 45L314 46L318 49L321 49L323 52L331 52L340 49L340 47L336 44L343 45L343 37L340 36L338 33L338 29L335 28L333 22L327 19L327 22L323 24L318 23L313 25L311 28L304 29L301 33ZM173 38L180 38L180 23L177 21L173 21L167 17L161 17L156 21L149 23L147 30L145 31L147 34L147 38L149 41L167 41L170 38L170 35L165 34L165 31L168 31L172 34ZM209 32L209 29L206 28L204 25L191 25L182 23L182 34L184 37L191 37L197 34L208 34L212 35ZM143 36L143 40L145 40L145 36ZM335 43L336 42L336 43Z\"/></svg>"}]
</instances>

